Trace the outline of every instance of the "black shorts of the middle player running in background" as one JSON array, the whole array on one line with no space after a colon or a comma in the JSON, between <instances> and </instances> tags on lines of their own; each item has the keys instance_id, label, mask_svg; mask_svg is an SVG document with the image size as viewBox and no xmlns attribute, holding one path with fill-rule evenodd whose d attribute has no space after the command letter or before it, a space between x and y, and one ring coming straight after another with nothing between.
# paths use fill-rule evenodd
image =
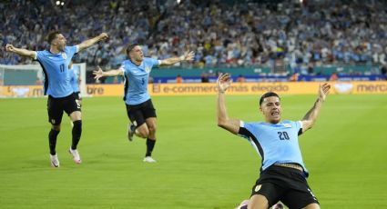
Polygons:
<instances>
[{"instance_id":1,"label":"black shorts of the middle player running in background","mask_svg":"<svg viewBox=\"0 0 387 209\"><path fill-rule=\"evenodd\" d=\"M132 124L139 126L145 123L149 117L157 117L156 109L153 106L152 100L149 99L141 104L127 105L127 116Z\"/></svg>"}]
</instances>

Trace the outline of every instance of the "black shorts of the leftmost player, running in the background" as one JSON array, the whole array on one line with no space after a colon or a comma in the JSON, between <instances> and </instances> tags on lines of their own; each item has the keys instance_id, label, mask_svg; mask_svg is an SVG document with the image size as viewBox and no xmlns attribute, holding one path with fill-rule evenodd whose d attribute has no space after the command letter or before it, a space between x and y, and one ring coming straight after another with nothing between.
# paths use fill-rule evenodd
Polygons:
<instances>
[{"instance_id":1,"label":"black shorts of the leftmost player, running in the background","mask_svg":"<svg viewBox=\"0 0 387 209\"><path fill-rule=\"evenodd\" d=\"M76 95L71 94L61 98L54 98L51 95L48 95L48 122L51 124L62 123L63 111L65 111L67 115L70 115L75 111L81 111L81 106L76 101Z\"/></svg>"}]
</instances>

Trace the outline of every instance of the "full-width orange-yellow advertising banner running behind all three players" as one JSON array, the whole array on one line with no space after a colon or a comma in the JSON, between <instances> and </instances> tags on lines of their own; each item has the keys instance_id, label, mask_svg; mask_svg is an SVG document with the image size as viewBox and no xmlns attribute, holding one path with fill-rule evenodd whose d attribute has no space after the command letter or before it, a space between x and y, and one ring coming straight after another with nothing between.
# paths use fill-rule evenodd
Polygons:
<instances>
[{"instance_id":1,"label":"full-width orange-yellow advertising banner running behind all three players","mask_svg":"<svg viewBox=\"0 0 387 209\"><path fill-rule=\"evenodd\" d=\"M276 92L280 95L315 95L320 82L281 83L234 83L228 95L262 95ZM387 82L332 82L331 94L346 95L387 95ZM123 96L124 85L87 85L87 95ZM216 84L151 84L149 95L215 95ZM1 96L36 97L43 95L39 85L9 85L0 88Z\"/></svg>"}]
</instances>

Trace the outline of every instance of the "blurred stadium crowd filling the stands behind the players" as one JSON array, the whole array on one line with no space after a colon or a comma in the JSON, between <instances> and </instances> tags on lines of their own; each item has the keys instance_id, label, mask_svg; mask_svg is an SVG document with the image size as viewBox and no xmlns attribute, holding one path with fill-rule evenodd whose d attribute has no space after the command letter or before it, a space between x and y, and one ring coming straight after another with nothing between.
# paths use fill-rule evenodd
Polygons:
<instances>
[{"instance_id":1,"label":"blurred stadium crowd filling the stands behind the players","mask_svg":"<svg viewBox=\"0 0 387 209\"><path fill-rule=\"evenodd\" d=\"M74 62L116 67L130 43L165 59L196 52L196 66L371 64L386 65L385 1L2 1L0 44L36 50L60 30L68 45L107 32ZM16 9L15 9L16 8ZM64 15L66 14L66 15ZM0 53L0 64L31 61Z\"/></svg>"}]
</instances>

